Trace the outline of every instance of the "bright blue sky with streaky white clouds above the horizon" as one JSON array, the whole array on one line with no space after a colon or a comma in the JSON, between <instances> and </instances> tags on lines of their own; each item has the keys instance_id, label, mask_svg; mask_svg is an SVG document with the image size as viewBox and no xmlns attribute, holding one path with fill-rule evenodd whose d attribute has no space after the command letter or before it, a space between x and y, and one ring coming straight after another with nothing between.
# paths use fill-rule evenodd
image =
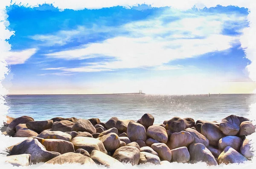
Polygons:
<instances>
[{"instance_id":1,"label":"bright blue sky with streaky white clouds above the horizon","mask_svg":"<svg viewBox=\"0 0 256 169\"><path fill-rule=\"evenodd\" d=\"M9 94L255 93L247 8L6 7Z\"/></svg>"}]
</instances>

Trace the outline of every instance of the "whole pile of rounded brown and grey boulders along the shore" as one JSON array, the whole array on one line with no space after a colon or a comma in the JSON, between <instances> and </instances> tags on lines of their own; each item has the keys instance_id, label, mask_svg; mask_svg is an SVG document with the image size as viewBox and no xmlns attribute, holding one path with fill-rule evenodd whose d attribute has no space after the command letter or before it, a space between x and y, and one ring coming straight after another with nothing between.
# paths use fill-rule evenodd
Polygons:
<instances>
[{"instance_id":1,"label":"whole pile of rounded brown and grey boulders along the shore","mask_svg":"<svg viewBox=\"0 0 256 169\"><path fill-rule=\"evenodd\" d=\"M93 167L122 167L123 163L243 163L253 157L246 136L256 128L249 119L236 115L220 123L174 117L154 124L154 117L148 113L138 121L112 117L106 123L99 118L8 119L8 135L27 137L7 148L10 155L6 163L16 166L39 162Z\"/></svg>"}]
</instances>

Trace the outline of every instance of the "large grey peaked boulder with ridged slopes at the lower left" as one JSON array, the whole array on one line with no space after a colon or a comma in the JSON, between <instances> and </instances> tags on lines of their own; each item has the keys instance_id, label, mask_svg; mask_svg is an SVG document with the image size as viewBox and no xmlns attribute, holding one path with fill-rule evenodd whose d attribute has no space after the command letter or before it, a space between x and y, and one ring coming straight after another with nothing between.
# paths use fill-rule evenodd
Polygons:
<instances>
[{"instance_id":1,"label":"large grey peaked boulder with ridged slopes at the lower left","mask_svg":"<svg viewBox=\"0 0 256 169\"><path fill-rule=\"evenodd\" d=\"M12 147L10 155L30 154L32 163L46 162L60 155L58 152L49 152L34 138L27 138L20 144Z\"/></svg>"}]
</instances>

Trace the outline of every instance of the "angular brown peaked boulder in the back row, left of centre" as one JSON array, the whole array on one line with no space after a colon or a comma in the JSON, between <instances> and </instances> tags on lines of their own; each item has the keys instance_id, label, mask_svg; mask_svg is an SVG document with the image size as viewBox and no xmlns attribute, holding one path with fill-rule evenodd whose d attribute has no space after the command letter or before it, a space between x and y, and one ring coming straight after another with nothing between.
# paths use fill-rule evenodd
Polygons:
<instances>
[{"instance_id":1,"label":"angular brown peaked boulder in the back row, left of centre","mask_svg":"<svg viewBox=\"0 0 256 169\"><path fill-rule=\"evenodd\" d=\"M96 129L89 120L79 119L72 127L72 131L96 133Z\"/></svg>"}]
</instances>

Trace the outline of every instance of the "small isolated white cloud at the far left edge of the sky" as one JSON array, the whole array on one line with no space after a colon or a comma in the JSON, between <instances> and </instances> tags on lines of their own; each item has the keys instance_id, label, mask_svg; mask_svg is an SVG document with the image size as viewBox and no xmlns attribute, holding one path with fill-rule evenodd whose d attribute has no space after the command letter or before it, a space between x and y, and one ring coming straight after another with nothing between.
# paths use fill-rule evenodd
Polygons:
<instances>
[{"instance_id":1,"label":"small isolated white cloud at the far left edge of the sky","mask_svg":"<svg viewBox=\"0 0 256 169\"><path fill-rule=\"evenodd\" d=\"M17 65L17 64L23 64L26 62L27 59L29 59L33 54L36 53L35 48L26 49L19 52L7 52L5 54L6 56L6 62L8 65Z\"/></svg>"}]
</instances>

